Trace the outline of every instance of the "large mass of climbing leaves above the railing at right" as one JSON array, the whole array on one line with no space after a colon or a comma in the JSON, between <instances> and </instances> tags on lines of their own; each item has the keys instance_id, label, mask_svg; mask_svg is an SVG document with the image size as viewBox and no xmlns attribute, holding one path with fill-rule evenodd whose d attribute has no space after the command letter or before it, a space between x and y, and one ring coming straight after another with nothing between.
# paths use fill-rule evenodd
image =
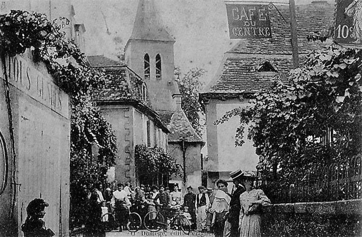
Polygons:
<instances>
[{"instance_id":1,"label":"large mass of climbing leaves above the railing at right","mask_svg":"<svg viewBox=\"0 0 362 237\"><path fill-rule=\"evenodd\" d=\"M251 106L226 113L216 124L239 116L236 145L248 138L266 177L285 178L317 172L318 167L361 154L362 51L336 46L308 55L291 72L289 83L276 79ZM326 131L333 129L328 139Z\"/></svg>"}]
</instances>

